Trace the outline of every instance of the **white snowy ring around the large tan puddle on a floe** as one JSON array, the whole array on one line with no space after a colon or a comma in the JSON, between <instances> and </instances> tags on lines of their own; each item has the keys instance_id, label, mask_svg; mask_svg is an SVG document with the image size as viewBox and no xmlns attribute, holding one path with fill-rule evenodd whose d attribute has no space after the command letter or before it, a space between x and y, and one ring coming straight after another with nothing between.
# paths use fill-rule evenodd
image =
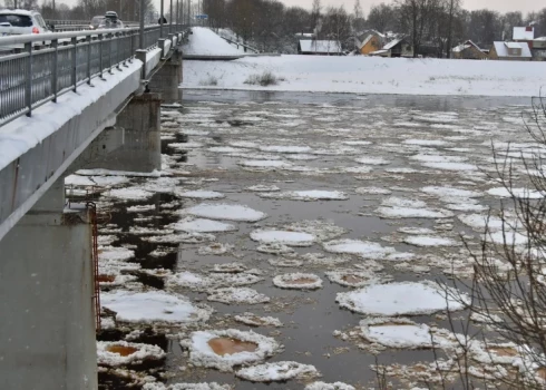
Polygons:
<instances>
[{"instance_id":1,"label":"white snowy ring around the large tan puddle on a floe","mask_svg":"<svg viewBox=\"0 0 546 390\"><path fill-rule=\"evenodd\" d=\"M218 338L240 340L257 344L255 351L217 354L209 345L209 341ZM281 350L281 345L272 338L255 333L243 332L235 329L222 331L193 332L189 340L181 341L181 345L189 349L189 362L196 367L215 368L221 371L233 371L234 365L250 364L262 361Z\"/></svg>"}]
</instances>

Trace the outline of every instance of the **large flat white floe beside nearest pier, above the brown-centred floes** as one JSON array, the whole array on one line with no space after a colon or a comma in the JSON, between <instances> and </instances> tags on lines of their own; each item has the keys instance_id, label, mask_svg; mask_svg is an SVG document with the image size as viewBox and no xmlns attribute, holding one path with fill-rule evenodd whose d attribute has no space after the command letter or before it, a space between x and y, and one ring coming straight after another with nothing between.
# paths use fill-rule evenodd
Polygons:
<instances>
[{"instance_id":1,"label":"large flat white floe beside nearest pier, above the brown-centred floes","mask_svg":"<svg viewBox=\"0 0 546 390\"><path fill-rule=\"evenodd\" d=\"M183 295L163 291L131 293L127 291L103 292L103 306L115 311L116 320L121 322L166 322L187 323L206 321L212 313L209 309L193 305Z\"/></svg>"}]
</instances>

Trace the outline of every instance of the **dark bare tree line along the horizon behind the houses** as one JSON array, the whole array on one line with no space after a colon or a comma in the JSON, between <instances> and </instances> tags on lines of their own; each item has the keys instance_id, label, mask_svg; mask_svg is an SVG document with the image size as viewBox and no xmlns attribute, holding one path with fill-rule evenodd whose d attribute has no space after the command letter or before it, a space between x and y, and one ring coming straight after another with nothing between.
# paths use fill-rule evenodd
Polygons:
<instances>
[{"instance_id":1,"label":"dark bare tree line along the horizon behind the houses","mask_svg":"<svg viewBox=\"0 0 546 390\"><path fill-rule=\"evenodd\" d=\"M3 0L6 7L38 9L47 19L87 20L108 10L118 12L121 20L138 20L139 7L135 0L79 0L68 7L57 0ZM296 33L313 33L314 39L338 40L347 50L354 49L355 39L368 29L403 36L417 53L449 57L450 49L471 39L489 48L496 40L511 39L514 27L533 26L536 37L546 36L546 8L523 14L500 13L482 9L468 11L461 0L394 0L373 6L364 14L360 0L352 10L324 7L313 0L312 9L287 7L279 0L174 0L178 10L173 19L188 22L196 13L206 13L205 26L230 28L242 40L263 51L293 52ZM165 0L165 16L170 19L169 0ZM158 17L153 0L146 0L148 21Z\"/></svg>"}]
</instances>

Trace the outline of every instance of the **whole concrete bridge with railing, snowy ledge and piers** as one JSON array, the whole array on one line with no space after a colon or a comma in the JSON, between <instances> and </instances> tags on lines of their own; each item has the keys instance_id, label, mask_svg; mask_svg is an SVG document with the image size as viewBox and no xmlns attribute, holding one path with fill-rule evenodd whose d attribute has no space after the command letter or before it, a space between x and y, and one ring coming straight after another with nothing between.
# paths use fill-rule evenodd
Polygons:
<instances>
[{"instance_id":1,"label":"whole concrete bridge with railing, snowy ledge and piers","mask_svg":"<svg viewBox=\"0 0 546 390\"><path fill-rule=\"evenodd\" d=\"M97 388L100 306L84 167L160 169L183 26L0 38L0 389Z\"/></svg>"}]
</instances>

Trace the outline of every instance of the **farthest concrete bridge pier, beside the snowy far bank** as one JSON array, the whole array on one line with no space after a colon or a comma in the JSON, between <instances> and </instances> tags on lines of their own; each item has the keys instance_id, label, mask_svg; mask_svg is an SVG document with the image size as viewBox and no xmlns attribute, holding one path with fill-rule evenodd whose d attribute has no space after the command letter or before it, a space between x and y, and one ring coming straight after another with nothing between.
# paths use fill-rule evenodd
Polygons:
<instances>
[{"instance_id":1,"label":"farthest concrete bridge pier, beside the snowy far bank","mask_svg":"<svg viewBox=\"0 0 546 390\"><path fill-rule=\"evenodd\" d=\"M149 80L149 89L160 92L166 104L182 101L182 51L175 49L170 59Z\"/></svg>"}]
</instances>

